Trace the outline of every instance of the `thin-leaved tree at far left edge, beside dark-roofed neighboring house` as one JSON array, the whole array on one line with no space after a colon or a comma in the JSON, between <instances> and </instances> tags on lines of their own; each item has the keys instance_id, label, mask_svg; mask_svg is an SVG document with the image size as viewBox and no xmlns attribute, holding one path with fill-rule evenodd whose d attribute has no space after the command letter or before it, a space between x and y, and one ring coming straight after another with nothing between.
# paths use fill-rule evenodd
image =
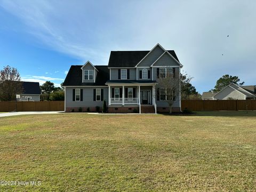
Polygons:
<instances>
[{"instance_id":1,"label":"thin-leaved tree at far left edge, beside dark-roofed neighboring house","mask_svg":"<svg viewBox=\"0 0 256 192\"><path fill-rule=\"evenodd\" d=\"M16 94L23 92L20 74L17 68L5 66L0 71L0 100L15 100Z\"/></svg>"}]
</instances>

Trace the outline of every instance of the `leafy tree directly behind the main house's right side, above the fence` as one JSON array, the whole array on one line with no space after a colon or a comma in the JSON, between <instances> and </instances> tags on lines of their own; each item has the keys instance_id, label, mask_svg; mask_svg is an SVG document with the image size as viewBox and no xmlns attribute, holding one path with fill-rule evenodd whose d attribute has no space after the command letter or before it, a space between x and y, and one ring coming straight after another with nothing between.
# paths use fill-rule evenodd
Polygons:
<instances>
[{"instance_id":1,"label":"leafy tree directly behind the main house's right side, above the fence","mask_svg":"<svg viewBox=\"0 0 256 192\"><path fill-rule=\"evenodd\" d=\"M181 99L200 99L201 95L198 94L196 88L190 83L192 77L187 74L180 74L181 81Z\"/></svg>"}]
</instances>

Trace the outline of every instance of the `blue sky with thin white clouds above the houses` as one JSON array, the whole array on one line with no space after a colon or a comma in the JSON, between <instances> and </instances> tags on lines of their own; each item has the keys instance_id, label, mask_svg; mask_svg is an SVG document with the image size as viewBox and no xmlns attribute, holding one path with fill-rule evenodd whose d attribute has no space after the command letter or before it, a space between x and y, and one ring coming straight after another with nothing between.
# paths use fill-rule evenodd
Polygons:
<instances>
[{"instance_id":1,"label":"blue sky with thin white clouds above the houses","mask_svg":"<svg viewBox=\"0 0 256 192\"><path fill-rule=\"evenodd\" d=\"M201 93L225 74L256 85L255 7L256 1L0 0L0 68L59 86L70 65L107 65L111 50L160 43L175 50Z\"/></svg>"}]
</instances>

